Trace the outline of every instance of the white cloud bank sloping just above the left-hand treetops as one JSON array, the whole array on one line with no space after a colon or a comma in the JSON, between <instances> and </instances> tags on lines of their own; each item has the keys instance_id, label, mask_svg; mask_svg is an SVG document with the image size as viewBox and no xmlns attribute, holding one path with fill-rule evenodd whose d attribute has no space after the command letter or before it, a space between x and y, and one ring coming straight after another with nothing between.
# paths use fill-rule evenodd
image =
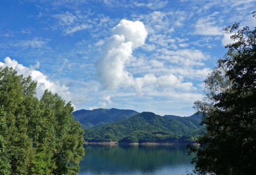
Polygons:
<instances>
[{"instance_id":1,"label":"white cloud bank sloping just above the left-hand treetops","mask_svg":"<svg viewBox=\"0 0 256 175\"><path fill-rule=\"evenodd\" d=\"M43 95L44 90L49 89L52 91L52 93L58 93L58 95L60 95L67 102L71 101L71 94L66 86L50 81L42 72L36 70L39 68L39 63L37 63L35 66L27 67L19 64L15 60L10 59L10 57L5 57L4 63L0 62L0 66L13 68L18 74L22 74L24 77L31 76L32 80L37 81L38 97Z\"/></svg>"}]
</instances>

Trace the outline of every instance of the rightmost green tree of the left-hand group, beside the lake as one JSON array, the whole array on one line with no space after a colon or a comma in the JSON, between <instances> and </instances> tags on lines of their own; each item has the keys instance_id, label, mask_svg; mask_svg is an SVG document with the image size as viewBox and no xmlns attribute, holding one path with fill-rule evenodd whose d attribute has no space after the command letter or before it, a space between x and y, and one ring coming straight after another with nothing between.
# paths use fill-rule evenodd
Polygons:
<instances>
[{"instance_id":1,"label":"rightmost green tree of the left-hand group, beside the lake","mask_svg":"<svg viewBox=\"0 0 256 175\"><path fill-rule=\"evenodd\" d=\"M65 104L57 94L45 91L41 102L46 116L46 143L52 150L52 160L56 168L54 174L77 174L79 162L84 155L84 131L79 122L74 121L71 103Z\"/></svg>"}]
</instances>

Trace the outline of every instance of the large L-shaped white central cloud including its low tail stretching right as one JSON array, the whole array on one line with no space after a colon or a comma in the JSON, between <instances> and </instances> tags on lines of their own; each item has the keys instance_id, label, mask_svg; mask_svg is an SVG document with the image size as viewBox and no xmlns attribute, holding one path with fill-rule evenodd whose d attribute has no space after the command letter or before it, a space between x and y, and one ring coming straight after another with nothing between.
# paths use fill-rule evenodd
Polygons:
<instances>
[{"instance_id":1,"label":"large L-shaped white central cloud including its low tail stretching right","mask_svg":"<svg viewBox=\"0 0 256 175\"><path fill-rule=\"evenodd\" d=\"M103 45L102 56L96 63L97 74L103 89L133 87L139 94L143 94L142 88L194 89L191 82L183 82L182 77L176 77L172 73L158 77L155 74L146 73L143 77L134 78L132 73L125 69L125 65L133 60L133 50L145 43L147 31L142 22L122 20L113 29L113 34L111 39ZM183 53L184 57L188 55L187 50ZM194 60L204 59L202 58L204 55L197 50L189 54ZM156 60L152 60L151 63L155 66L163 65Z\"/></svg>"}]
</instances>

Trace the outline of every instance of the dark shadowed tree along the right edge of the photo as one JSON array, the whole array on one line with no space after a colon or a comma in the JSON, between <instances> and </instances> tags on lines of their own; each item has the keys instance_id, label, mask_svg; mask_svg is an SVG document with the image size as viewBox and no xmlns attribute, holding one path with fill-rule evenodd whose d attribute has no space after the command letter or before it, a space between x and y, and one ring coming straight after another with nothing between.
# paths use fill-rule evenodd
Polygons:
<instances>
[{"instance_id":1,"label":"dark shadowed tree along the right edge of the photo","mask_svg":"<svg viewBox=\"0 0 256 175\"><path fill-rule=\"evenodd\" d=\"M205 98L195 102L207 114L207 132L190 150L199 174L255 174L256 28L235 23L226 31L235 43L205 80Z\"/></svg>"}]
</instances>

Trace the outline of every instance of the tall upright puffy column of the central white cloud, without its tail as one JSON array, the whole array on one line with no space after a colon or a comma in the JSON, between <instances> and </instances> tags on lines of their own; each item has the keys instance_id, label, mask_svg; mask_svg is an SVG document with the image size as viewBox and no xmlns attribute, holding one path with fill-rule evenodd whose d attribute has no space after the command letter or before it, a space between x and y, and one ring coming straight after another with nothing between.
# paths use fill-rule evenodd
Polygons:
<instances>
[{"instance_id":1,"label":"tall upright puffy column of the central white cloud, without its tail","mask_svg":"<svg viewBox=\"0 0 256 175\"><path fill-rule=\"evenodd\" d=\"M142 46L147 37L140 21L122 20L113 36L103 45L101 59L96 63L97 74L103 88L117 88L133 84L133 76L125 70L125 63L132 57L134 48Z\"/></svg>"}]
</instances>

